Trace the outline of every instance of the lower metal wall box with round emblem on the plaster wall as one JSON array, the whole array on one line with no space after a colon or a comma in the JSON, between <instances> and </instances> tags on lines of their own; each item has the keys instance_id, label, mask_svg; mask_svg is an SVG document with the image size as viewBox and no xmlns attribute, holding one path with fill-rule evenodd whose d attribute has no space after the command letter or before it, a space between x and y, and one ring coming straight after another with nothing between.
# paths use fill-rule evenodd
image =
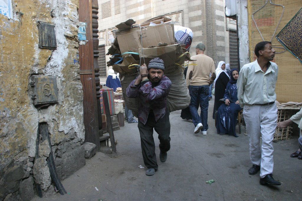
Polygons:
<instances>
[{"instance_id":1,"label":"lower metal wall box with round emblem on the plaster wall","mask_svg":"<svg viewBox=\"0 0 302 201\"><path fill-rule=\"evenodd\" d=\"M31 98L35 106L49 105L58 102L58 88L54 76L31 76L30 85L33 87Z\"/></svg>"}]
</instances>

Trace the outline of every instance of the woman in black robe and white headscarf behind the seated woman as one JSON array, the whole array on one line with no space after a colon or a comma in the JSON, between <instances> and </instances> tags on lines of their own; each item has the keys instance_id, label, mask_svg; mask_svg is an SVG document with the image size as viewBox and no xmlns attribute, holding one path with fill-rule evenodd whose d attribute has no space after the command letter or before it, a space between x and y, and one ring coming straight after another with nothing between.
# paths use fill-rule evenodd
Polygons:
<instances>
[{"instance_id":1,"label":"woman in black robe and white headscarf behind the seated woman","mask_svg":"<svg viewBox=\"0 0 302 201\"><path fill-rule=\"evenodd\" d=\"M214 80L215 88L215 99L213 108L213 119L215 119L215 113L217 112L219 106L223 104L220 99L223 98L224 92L226 90L226 85L230 81L230 77L226 72L226 64L224 61L219 61L216 69L216 79Z\"/></svg>"}]
</instances>

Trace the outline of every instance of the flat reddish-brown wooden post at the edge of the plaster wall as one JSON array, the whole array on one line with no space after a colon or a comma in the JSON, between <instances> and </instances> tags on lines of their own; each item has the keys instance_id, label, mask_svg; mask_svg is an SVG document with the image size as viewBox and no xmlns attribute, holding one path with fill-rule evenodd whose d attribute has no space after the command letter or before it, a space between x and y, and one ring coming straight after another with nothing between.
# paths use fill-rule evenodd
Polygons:
<instances>
[{"instance_id":1,"label":"flat reddish-brown wooden post at the edge of the plaster wall","mask_svg":"<svg viewBox=\"0 0 302 201\"><path fill-rule=\"evenodd\" d=\"M85 142L94 143L100 151L98 106L95 87L92 41L92 0L79 0L79 21L87 23L87 43L79 45L80 77L83 85Z\"/></svg>"}]
</instances>

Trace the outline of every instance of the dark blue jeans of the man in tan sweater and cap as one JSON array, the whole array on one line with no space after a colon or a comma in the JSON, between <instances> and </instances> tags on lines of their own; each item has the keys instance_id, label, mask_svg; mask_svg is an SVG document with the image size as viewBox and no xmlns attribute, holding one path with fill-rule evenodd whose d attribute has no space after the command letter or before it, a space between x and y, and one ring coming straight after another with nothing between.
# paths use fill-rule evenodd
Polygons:
<instances>
[{"instance_id":1,"label":"dark blue jeans of the man in tan sweater and cap","mask_svg":"<svg viewBox=\"0 0 302 201\"><path fill-rule=\"evenodd\" d=\"M209 86L202 85L202 86L191 86L189 85L189 91L191 96L190 102L190 112L192 114L193 124L196 126L199 123L202 123L203 128L202 131L206 131L209 126L207 124L207 113L209 107ZM196 104L200 101L200 116L198 115L198 107Z\"/></svg>"}]
</instances>

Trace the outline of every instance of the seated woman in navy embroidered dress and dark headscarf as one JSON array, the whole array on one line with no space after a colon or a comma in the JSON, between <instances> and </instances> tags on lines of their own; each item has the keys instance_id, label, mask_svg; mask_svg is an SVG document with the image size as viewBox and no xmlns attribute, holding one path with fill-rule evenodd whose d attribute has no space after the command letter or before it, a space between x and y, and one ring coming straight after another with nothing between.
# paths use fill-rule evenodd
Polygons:
<instances>
[{"instance_id":1,"label":"seated woman in navy embroidered dress and dark headscarf","mask_svg":"<svg viewBox=\"0 0 302 201\"><path fill-rule=\"evenodd\" d=\"M237 98L237 79L239 76L237 69L231 70L231 79L226 86L224 93L224 103L220 105L217 112L216 129L217 133L226 133L238 137L235 132L237 114L242 108L239 106Z\"/></svg>"}]
</instances>

